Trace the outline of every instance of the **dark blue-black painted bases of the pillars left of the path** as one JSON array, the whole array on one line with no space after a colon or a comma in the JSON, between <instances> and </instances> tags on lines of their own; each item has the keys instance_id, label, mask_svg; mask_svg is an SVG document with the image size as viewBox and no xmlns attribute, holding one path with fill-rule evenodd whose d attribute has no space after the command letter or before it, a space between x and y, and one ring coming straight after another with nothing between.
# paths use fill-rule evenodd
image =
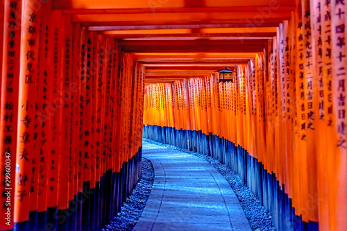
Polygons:
<instances>
[{"instance_id":1,"label":"dark blue-black painted bases of the pillars left of the path","mask_svg":"<svg viewBox=\"0 0 347 231\"><path fill-rule=\"evenodd\" d=\"M141 171L142 148L139 148L119 172L108 169L103 173L95 187L90 188L89 181L83 182L83 191L69 201L67 209L49 207L46 212L30 212L28 221L15 223L14 230L100 230L120 211L121 205L136 187Z\"/></svg>"}]
</instances>

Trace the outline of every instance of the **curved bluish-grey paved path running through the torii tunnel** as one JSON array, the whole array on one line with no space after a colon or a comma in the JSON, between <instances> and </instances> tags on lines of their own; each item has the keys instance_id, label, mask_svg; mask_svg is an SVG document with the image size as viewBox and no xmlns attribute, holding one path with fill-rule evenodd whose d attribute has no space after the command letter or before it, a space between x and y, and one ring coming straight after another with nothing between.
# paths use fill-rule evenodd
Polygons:
<instances>
[{"instance_id":1,"label":"curved bluish-grey paved path running through the torii tunnel","mask_svg":"<svg viewBox=\"0 0 347 231\"><path fill-rule=\"evenodd\" d=\"M251 230L230 185L208 162L148 142L143 157L155 178L134 231Z\"/></svg>"}]
</instances>

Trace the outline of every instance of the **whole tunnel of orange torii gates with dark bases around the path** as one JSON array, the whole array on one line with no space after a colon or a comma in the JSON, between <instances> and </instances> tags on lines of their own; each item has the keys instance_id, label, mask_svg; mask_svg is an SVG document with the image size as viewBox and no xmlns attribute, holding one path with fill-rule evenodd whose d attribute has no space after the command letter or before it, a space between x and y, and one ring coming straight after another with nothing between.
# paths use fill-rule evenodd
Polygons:
<instances>
[{"instance_id":1,"label":"whole tunnel of orange torii gates with dark bases around the path","mask_svg":"<svg viewBox=\"0 0 347 231\"><path fill-rule=\"evenodd\" d=\"M1 1L1 230L104 227L142 136L228 165L277 230L347 230L346 5Z\"/></svg>"}]
</instances>

